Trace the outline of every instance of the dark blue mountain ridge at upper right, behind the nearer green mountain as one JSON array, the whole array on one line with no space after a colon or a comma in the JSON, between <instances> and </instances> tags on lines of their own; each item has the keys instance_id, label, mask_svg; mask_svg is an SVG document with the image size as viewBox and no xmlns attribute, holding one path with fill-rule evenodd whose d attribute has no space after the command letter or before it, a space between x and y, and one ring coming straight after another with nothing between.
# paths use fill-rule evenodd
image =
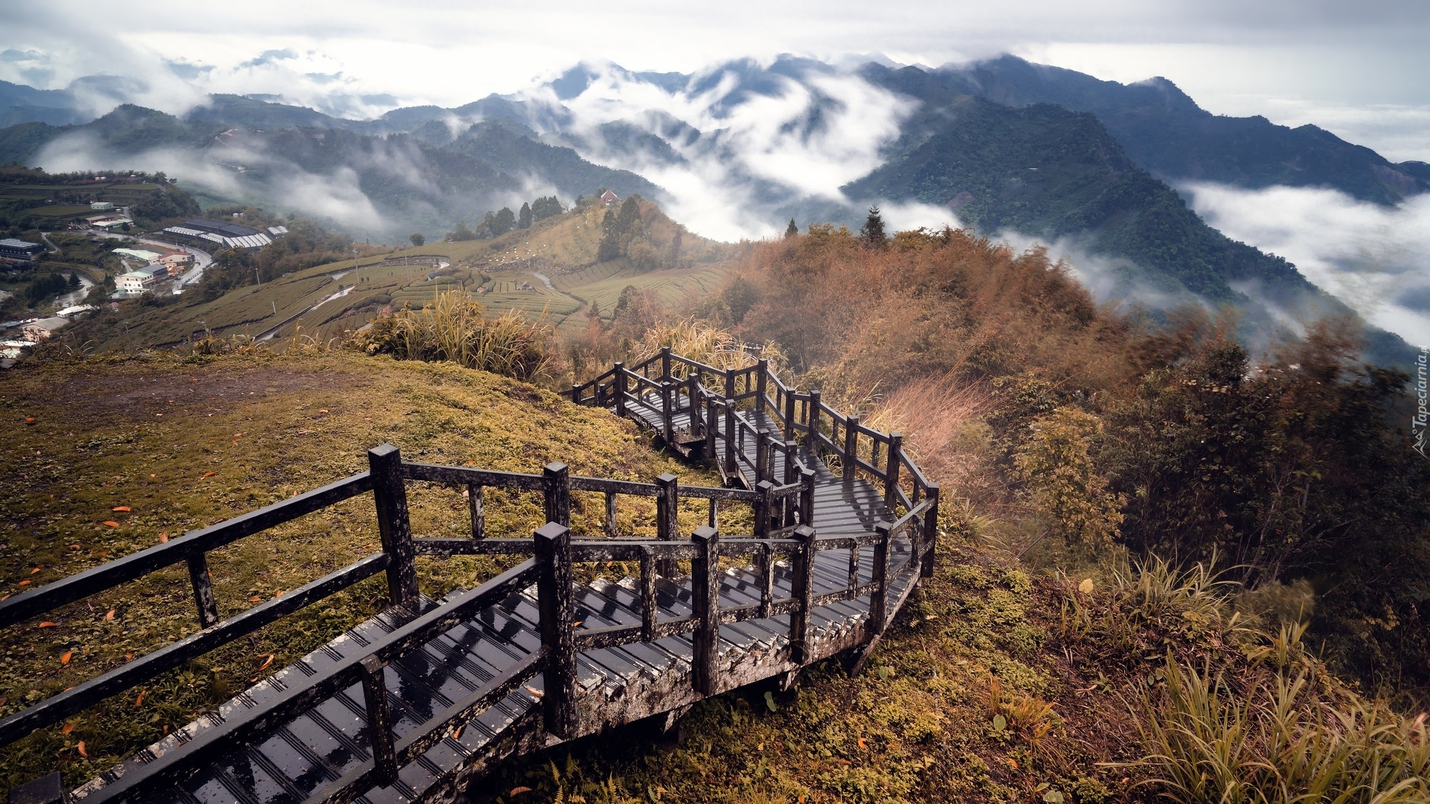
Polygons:
<instances>
[{"instance_id":1,"label":"dark blue mountain ridge at upper right, behind the nearer green mountain","mask_svg":"<svg viewBox=\"0 0 1430 804\"><path fill-rule=\"evenodd\" d=\"M912 67L905 67L909 70ZM904 72L868 64L874 83L898 83ZM1238 187L1336 187L1361 200L1397 203L1430 190L1423 167L1394 165L1374 150L1317 126L1277 126L1266 117L1213 114L1167 79L1121 84L1002 56L950 64L928 73L954 94L1004 106L1055 103L1091 112L1133 162L1171 180Z\"/></svg>"}]
</instances>

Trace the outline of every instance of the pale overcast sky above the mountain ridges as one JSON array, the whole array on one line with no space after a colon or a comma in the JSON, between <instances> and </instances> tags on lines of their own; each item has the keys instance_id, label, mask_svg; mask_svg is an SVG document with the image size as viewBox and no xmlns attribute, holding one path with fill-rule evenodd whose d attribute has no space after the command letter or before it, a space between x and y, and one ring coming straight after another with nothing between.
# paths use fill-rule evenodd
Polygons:
<instances>
[{"instance_id":1,"label":"pale overcast sky above the mountain ridges","mask_svg":"<svg viewBox=\"0 0 1430 804\"><path fill-rule=\"evenodd\" d=\"M694 72L778 53L942 64L1010 52L1120 82L1165 76L1217 113L1316 122L1390 159L1430 160L1427 33L1420 0L6 0L0 79L56 89L126 76L172 112L204 92L339 96L329 109L360 116L515 92L583 59Z\"/></svg>"}]
</instances>

